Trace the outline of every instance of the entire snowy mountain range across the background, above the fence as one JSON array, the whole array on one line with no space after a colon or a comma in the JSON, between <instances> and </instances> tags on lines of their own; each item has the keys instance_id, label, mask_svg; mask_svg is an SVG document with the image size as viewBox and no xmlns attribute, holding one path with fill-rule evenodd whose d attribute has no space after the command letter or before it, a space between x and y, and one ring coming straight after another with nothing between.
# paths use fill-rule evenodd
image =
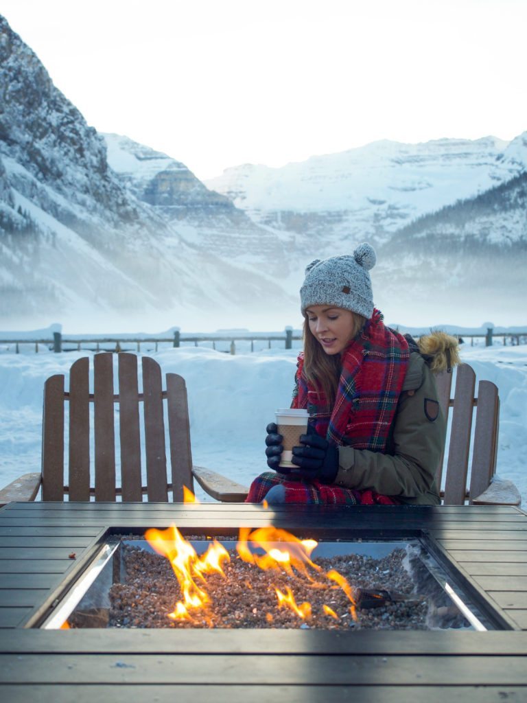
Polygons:
<instances>
[{"instance_id":1,"label":"entire snowy mountain range across the background, above the fence","mask_svg":"<svg viewBox=\"0 0 527 703\"><path fill-rule=\"evenodd\" d=\"M375 302L391 323L514 325L518 308L525 320L527 132L381 141L205 185L89 127L2 18L0 94L0 321L11 328L298 325L304 266L363 240L377 247Z\"/></svg>"}]
</instances>

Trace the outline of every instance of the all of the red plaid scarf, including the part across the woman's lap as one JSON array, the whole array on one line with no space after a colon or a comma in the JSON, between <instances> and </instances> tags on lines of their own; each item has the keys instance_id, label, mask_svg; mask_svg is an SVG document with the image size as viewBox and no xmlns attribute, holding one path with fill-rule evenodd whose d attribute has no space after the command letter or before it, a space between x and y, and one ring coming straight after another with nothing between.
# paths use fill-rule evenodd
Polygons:
<instances>
[{"instance_id":1,"label":"all of the red plaid scarf, including the part across the woman's lap","mask_svg":"<svg viewBox=\"0 0 527 703\"><path fill-rule=\"evenodd\" d=\"M304 374L304 354L301 354L297 394L292 407L307 408L311 425L332 444L386 451L409 358L405 338L385 327L382 314L375 310L360 335L344 351L334 406L328 406L323 392L308 384ZM284 486L285 503L398 504L396 498L380 496L369 489L358 491L326 486L318 481L291 481L274 472L266 472L254 479L246 502L261 502L276 484Z\"/></svg>"}]
</instances>

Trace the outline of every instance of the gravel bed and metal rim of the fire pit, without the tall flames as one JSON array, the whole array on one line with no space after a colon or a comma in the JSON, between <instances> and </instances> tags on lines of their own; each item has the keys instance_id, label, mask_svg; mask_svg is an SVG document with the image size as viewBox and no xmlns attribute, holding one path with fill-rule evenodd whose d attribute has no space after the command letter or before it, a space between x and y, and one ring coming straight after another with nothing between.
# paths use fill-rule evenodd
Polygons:
<instances>
[{"instance_id":1,"label":"gravel bed and metal rim of the fire pit, without the tall flames","mask_svg":"<svg viewBox=\"0 0 527 703\"><path fill-rule=\"evenodd\" d=\"M198 555L211 542L191 539ZM263 571L240 559L236 541L221 540L230 561L207 576L212 605L203 617L169 617L181 589L167 558L145 541L114 536L44 628L361 628L486 630L492 625L455 586L419 539L323 541L311 559L337 572L351 592L313 579ZM276 543L283 548L283 543ZM331 578L331 576L330 576ZM282 607L280 592L289 603ZM291 603L292 600L292 603ZM350 605L353 603L353 605ZM294 604L294 605L292 605Z\"/></svg>"}]
</instances>

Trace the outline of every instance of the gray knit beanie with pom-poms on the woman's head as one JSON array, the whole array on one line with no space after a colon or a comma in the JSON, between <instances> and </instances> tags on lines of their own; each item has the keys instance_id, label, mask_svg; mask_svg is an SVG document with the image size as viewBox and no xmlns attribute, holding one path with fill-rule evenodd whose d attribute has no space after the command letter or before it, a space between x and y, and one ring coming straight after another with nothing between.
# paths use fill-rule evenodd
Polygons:
<instances>
[{"instance_id":1,"label":"gray knit beanie with pom-poms on the woman's head","mask_svg":"<svg viewBox=\"0 0 527 703\"><path fill-rule=\"evenodd\" d=\"M306 269L300 289L302 314L311 305L334 305L363 315L373 314L372 282L368 271L377 255L372 245L359 244L352 255L315 259Z\"/></svg>"}]
</instances>

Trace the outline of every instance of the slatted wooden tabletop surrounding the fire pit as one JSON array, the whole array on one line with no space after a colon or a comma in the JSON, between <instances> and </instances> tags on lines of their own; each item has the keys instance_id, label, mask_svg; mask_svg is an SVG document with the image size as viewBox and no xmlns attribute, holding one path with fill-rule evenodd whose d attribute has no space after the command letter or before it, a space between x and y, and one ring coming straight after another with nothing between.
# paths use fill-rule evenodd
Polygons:
<instances>
[{"instance_id":1,"label":"slatted wooden tabletop surrounding the fire pit","mask_svg":"<svg viewBox=\"0 0 527 703\"><path fill-rule=\"evenodd\" d=\"M111 527L235 534L429 534L502 631L70 630L30 625ZM310 527L307 528L306 525ZM11 503L0 510L0 693L6 701L331 702L527 700L527 515L516 508L277 508ZM75 558L70 555L75 553Z\"/></svg>"}]
</instances>

